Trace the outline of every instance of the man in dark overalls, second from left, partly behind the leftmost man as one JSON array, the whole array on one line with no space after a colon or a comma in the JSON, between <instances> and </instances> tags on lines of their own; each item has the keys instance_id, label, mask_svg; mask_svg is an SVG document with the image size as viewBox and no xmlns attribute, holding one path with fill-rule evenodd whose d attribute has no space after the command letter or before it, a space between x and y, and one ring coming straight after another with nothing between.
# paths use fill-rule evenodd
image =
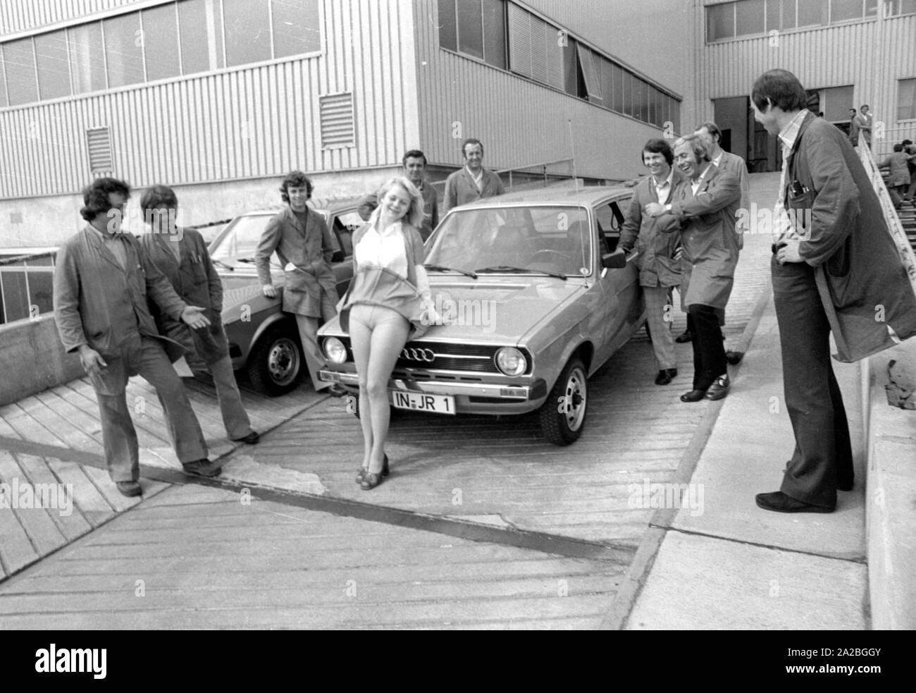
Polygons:
<instances>
[{"instance_id":1,"label":"man in dark overalls, second from left, partly behind the leftmost man","mask_svg":"<svg viewBox=\"0 0 916 693\"><path fill-rule=\"evenodd\" d=\"M207 244L198 231L176 225L178 197L171 188L165 185L149 188L140 200L140 210L149 226L149 232L140 237L140 246L181 300L203 306L210 319L209 327L191 330L152 304L149 308L156 326L160 333L178 342L186 353L202 361L203 368L210 371L230 440L255 444L260 436L252 430L242 404L223 329L223 281L213 267ZM166 351L172 360L181 357L177 349L167 348Z\"/></svg>"}]
</instances>

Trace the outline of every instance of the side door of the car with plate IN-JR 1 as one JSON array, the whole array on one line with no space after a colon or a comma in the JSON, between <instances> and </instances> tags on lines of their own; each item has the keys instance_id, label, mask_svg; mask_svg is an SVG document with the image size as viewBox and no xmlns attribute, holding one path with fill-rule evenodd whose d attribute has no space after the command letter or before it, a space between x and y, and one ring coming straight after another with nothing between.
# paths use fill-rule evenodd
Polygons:
<instances>
[{"instance_id":1,"label":"side door of the car with plate IN-JR 1","mask_svg":"<svg viewBox=\"0 0 916 693\"><path fill-rule=\"evenodd\" d=\"M627 341L638 327L642 314L639 294L639 273L633 259L627 260L627 267L617 270L605 270L600 264L600 255L614 252L620 239L624 223L623 209L627 197L598 203L594 208L597 222L599 251L598 285L604 294L601 303L604 339L601 347L596 348L598 362L609 358L616 349Z\"/></svg>"}]
</instances>

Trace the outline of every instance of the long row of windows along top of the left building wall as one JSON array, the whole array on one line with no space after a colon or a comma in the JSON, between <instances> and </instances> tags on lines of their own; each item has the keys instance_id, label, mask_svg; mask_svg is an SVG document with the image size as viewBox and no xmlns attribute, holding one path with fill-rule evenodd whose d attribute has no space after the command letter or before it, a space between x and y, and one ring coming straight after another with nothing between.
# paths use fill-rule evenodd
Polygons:
<instances>
[{"instance_id":1,"label":"long row of windows along top of the left building wall","mask_svg":"<svg viewBox=\"0 0 916 693\"><path fill-rule=\"evenodd\" d=\"M504 11L505 0L480 1L485 55L502 55L505 67L505 19L493 10ZM317 52L321 5L180 0L8 41L0 44L0 106Z\"/></svg>"}]
</instances>

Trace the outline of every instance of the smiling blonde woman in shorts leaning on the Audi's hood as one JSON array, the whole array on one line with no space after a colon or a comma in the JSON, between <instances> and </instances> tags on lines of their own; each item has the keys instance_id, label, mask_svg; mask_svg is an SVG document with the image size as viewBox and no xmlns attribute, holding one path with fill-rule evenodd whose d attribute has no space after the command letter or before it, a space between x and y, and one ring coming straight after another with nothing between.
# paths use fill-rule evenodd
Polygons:
<instances>
[{"instance_id":1,"label":"smiling blonde woman in shorts leaning on the Audi's hood","mask_svg":"<svg viewBox=\"0 0 916 693\"><path fill-rule=\"evenodd\" d=\"M441 322L423 269L420 191L398 176L381 187L378 202L368 223L354 234L354 279L341 309L359 376L365 449L356 482L363 490L376 488L388 474L387 385L398 354L409 337Z\"/></svg>"}]
</instances>

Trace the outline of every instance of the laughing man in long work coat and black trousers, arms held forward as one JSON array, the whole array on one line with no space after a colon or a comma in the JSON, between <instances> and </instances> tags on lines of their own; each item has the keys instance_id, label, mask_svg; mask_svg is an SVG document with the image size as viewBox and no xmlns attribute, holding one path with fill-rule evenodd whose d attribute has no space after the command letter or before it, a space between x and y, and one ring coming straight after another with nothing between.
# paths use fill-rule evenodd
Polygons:
<instances>
[{"instance_id":1,"label":"laughing man in long work coat and black trousers, arms held forward","mask_svg":"<svg viewBox=\"0 0 916 693\"><path fill-rule=\"evenodd\" d=\"M681 401L721 400L731 388L720 325L738 262L735 213L741 186L734 173L713 166L698 135L674 143L674 161L686 181L671 203L649 203L646 214L660 217L662 230L681 230L681 303L695 331L693 389ZM666 223L668 216L676 223Z\"/></svg>"}]
</instances>

